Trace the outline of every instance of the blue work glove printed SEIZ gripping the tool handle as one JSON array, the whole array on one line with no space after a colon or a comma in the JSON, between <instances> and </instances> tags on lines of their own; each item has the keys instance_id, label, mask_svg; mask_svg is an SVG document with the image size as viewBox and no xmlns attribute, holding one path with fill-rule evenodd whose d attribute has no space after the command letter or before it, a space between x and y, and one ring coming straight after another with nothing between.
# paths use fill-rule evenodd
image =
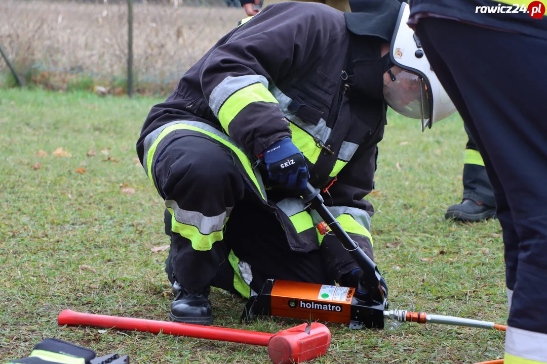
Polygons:
<instances>
[{"instance_id":1,"label":"blue work glove printed SEIZ gripping the tool handle","mask_svg":"<svg viewBox=\"0 0 547 364\"><path fill-rule=\"evenodd\" d=\"M262 154L272 187L304 192L310 174L304 154L290 138L285 138L267 148Z\"/></svg>"}]
</instances>

